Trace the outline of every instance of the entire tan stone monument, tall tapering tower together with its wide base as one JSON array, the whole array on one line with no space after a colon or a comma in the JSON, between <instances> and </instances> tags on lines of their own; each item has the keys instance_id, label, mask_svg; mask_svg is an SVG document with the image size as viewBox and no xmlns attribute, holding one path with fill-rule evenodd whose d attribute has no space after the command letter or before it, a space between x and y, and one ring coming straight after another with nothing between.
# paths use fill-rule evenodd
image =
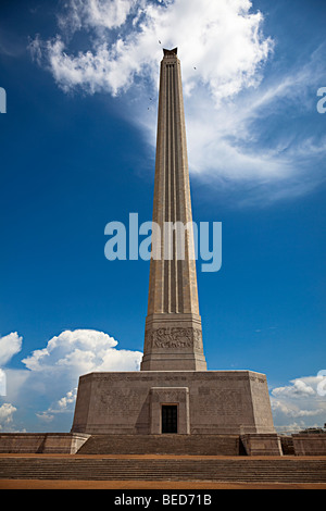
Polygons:
<instances>
[{"instance_id":1,"label":"entire tan stone monument, tall tapering tower together with its wide base","mask_svg":"<svg viewBox=\"0 0 326 511\"><path fill-rule=\"evenodd\" d=\"M246 441L252 445L255 440L249 436L259 434L259 449L277 454L279 441L273 425L266 376L252 371L206 371L193 257L181 74L176 49L164 50L160 79L155 224L141 370L80 376L72 432L134 435L129 440L131 449L137 445L138 435L155 435L158 449L160 435L181 435L173 443L173 448L178 446L178 449L186 435L193 435L193 441L201 435L201 446L212 454L225 453L221 435L246 434ZM172 230L173 236L164 236L166 224L178 224L185 235L184 244L177 242L178 229ZM154 235L155 225L160 236L158 232ZM167 233L171 234L170 229ZM214 435L220 436L214 440ZM236 447L229 447L227 452L237 454L240 443L237 440L236 445L231 438L229 441ZM114 452L123 444L108 443ZM184 447L184 453L189 453L189 449L193 452L193 445ZM162 444L160 449L165 449L164 446ZM99 451L93 449L93 452Z\"/></svg>"}]
</instances>

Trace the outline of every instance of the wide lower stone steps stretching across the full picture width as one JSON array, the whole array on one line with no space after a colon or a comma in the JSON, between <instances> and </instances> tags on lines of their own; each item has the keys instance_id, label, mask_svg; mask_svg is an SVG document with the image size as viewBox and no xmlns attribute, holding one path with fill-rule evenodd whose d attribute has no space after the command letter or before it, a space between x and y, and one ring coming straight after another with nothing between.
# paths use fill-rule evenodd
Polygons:
<instances>
[{"instance_id":1,"label":"wide lower stone steps stretching across the full picture width","mask_svg":"<svg viewBox=\"0 0 326 511\"><path fill-rule=\"evenodd\" d=\"M3 457L0 478L326 483L326 460Z\"/></svg>"}]
</instances>

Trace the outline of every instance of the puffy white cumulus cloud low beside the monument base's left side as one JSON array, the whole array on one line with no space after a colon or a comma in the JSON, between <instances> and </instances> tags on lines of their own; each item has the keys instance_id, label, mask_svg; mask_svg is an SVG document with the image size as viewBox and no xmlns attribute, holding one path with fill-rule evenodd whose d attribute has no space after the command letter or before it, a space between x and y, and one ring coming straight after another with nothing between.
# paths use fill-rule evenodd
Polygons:
<instances>
[{"instance_id":1,"label":"puffy white cumulus cloud low beside the monument base's left side","mask_svg":"<svg viewBox=\"0 0 326 511\"><path fill-rule=\"evenodd\" d=\"M20 339L16 350L21 349ZM8 402L0 408L0 425L11 431L26 425L29 431L38 431L42 427L38 424L46 427L51 423L54 431L66 429L71 427L80 375L138 371L141 357L140 351L117 349L117 340L103 332L64 331L48 340L45 348L25 357L25 370L5 370ZM14 412L16 427L12 422Z\"/></svg>"}]
</instances>

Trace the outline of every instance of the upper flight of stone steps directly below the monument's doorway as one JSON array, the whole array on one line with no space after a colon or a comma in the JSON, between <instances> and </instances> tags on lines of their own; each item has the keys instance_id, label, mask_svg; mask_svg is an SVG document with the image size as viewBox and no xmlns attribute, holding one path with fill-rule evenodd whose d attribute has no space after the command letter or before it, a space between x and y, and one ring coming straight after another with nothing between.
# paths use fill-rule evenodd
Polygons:
<instances>
[{"instance_id":1,"label":"upper flight of stone steps directly below the monument's doorway","mask_svg":"<svg viewBox=\"0 0 326 511\"><path fill-rule=\"evenodd\" d=\"M92 435L78 454L246 454L239 435Z\"/></svg>"}]
</instances>

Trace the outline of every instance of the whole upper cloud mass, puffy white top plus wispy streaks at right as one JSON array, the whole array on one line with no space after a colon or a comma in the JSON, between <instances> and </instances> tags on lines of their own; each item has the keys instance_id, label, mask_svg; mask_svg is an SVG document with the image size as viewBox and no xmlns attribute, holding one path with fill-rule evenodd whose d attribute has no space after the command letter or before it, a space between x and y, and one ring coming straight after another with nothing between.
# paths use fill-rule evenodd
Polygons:
<instances>
[{"instance_id":1,"label":"whole upper cloud mass, puffy white top plus wispy streaks at right","mask_svg":"<svg viewBox=\"0 0 326 511\"><path fill-rule=\"evenodd\" d=\"M244 186L242 202L268 203L324 180L325 138L301 126L317 115L325 48L266 75L275 45L263 22L249 0L71 0L58 34L37 36L30 51L66 92L124 95L122 114L154 145L149 97L162 47L178 46L190 171L222 189Z\"/></svg>"}]
</instances>

